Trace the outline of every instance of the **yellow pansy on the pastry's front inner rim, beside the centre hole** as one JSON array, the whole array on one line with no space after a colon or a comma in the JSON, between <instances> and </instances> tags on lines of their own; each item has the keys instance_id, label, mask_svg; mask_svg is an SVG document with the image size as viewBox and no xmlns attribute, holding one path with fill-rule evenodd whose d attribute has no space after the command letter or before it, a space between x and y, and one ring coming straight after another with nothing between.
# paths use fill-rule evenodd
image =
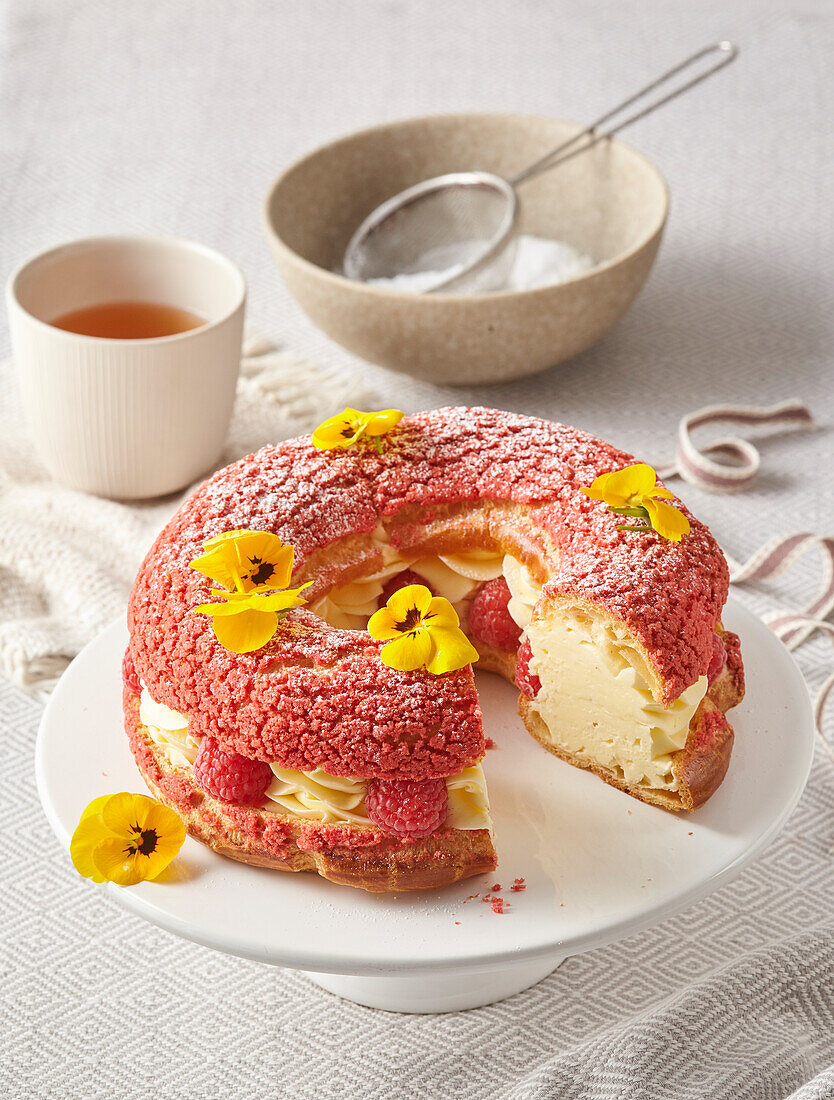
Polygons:
<instances>
[{"instance_id":1,"label":"yellow pansy on the pastry's front inner rim, beside the centre hole","mask_svg":"<svg viewBox=\"0 0 834 1100\"><path fill-rule=\"evenodd\" d=\"M425 584L399 588L373 614L367 629L372 638L387 641L380 657L400 672L425 666L440 675L456 672L478 660L478 650L460 628L458 613L443 596L432 596Z\"/></svg>"}]
</instances>

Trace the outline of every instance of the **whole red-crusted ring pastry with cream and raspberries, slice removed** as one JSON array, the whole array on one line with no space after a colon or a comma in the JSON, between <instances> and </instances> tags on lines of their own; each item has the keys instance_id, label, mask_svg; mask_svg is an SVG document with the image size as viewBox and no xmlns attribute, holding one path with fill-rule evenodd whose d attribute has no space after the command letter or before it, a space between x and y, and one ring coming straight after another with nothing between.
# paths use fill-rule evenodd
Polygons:
<instances>
[{"instance_id":1,"label":"whole red-crusted ring pastry with cream and raspberries, slice removed","mask_svg":"<svg viewBox=\"0 0 834 1100\"><path fill-rule=\"evenodd\" d=\"M459 408L407 417L378 448L322 452L303 437L215 474L131 593L125 726L151 790L244 862L366 890L491 870L471 669L392 669L366 631L416 578L451 603L478 667L516 679L525 726L550 752L644 802L701 805L744 692L721 623L726 562L659 483L674 538L589 497L632 461L563 425ZM307 606L270 612L274 632L230 651L206 607L223 597L237 614L251 591L218 593L190 563L254 532L294 549L287 581ZM264 568L252 561L250 585Z\"/></svg>"}]
</instances>

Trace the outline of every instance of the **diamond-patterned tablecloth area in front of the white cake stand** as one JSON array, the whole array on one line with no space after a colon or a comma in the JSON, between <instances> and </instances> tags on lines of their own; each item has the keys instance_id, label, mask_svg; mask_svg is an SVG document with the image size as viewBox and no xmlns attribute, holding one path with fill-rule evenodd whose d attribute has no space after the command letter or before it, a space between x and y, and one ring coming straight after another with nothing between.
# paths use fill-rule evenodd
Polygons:
<instances>
[{"instance_id":1,"label":"diamond-patterned tablecloth area in front of the white cake stand","mask_svg":"<svg viewBox=\"0 0 834 1100\"><path fill-rule=\"evenodd\" d=\"M81 881L37 804L39 717L31 696L0 690L3 1096L834 1094L834 765L822 752L786 832L735 883L501 1004L397 1016L176 939Z\"/></svg>"}]
</instances>

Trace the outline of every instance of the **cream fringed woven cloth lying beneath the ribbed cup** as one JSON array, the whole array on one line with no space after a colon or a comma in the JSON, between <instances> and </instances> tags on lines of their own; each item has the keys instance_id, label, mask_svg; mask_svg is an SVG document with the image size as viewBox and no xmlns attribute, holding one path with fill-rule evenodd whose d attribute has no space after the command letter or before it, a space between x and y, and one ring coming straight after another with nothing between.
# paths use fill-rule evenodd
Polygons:
<instances>
[{"instance_id":1,"label":"cream fringed woven cloth lying beneath the ribbed cup","mask_svg":"<svg viewBox=\"0 0 834 1100\"><path fill-rule=\"evenodd\" d=\"M310 431L372 396L263 337L244 341L220 464ZM124 613L140 562L182 495L147 504L88 496L56 484L23 428L12 363L0 363L0 674L43 694L68 661Z\"/></svg>"}]
</instances>

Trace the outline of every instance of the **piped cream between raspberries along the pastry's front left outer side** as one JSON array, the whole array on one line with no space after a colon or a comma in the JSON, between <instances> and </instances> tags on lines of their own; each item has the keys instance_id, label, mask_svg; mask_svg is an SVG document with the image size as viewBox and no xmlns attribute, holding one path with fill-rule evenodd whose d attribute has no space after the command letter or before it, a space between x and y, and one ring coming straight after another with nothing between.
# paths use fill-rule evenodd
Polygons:
<instances>
[{"instance_id":1,"label":"piped cream between raspberries along the pastry's front left outer side","mask_svg":"<svg viewBox=\"0 0 834 1100\"><path fill-rule=\"evenodd\" d=\"M139 716L149 735L168 762L175 768L190 768L199 751L199 741L188 733L188 718L171 707L155 702L142 689ZM315 771L295 771L270 765L275 777L266 788L266 798L277 807L297 817L338 824L353 822L371 825L365 809L366 779L330 776L317 768ZM486 828L492 833L486 778L480 763L464 768L446 781L449 809L446 826L459 829Z\"/></svg>"}]
</instances>

